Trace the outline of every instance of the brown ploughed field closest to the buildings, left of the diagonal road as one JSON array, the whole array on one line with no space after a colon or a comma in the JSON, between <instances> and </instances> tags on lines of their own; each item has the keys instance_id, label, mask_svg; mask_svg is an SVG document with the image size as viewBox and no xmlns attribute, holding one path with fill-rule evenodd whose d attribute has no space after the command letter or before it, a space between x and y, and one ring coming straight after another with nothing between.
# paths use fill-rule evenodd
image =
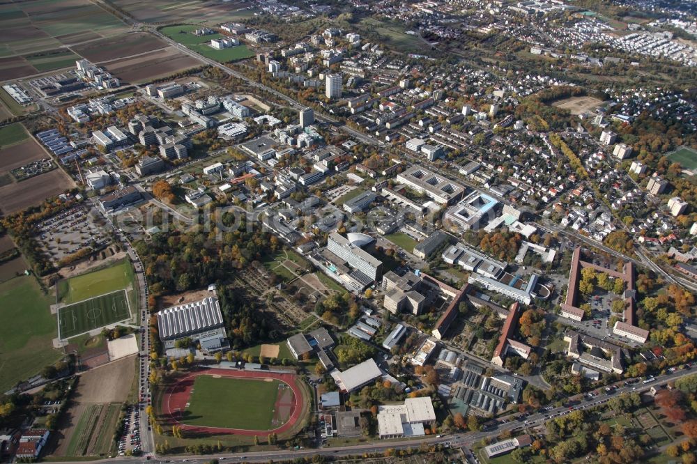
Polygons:
<instances>
[{"instance_id":1,"label":"brown ploughed field closest to the buildings, left of the diagonal road","mask_svg":"<svg viewBox=\"0 0 697 464\"><path fill-rule=\"evenodd\" d=\"M203 62L174 47L167 47L131 58L109 61L104 67L124 84L137 84L202 64Z\"/></svg>"}]
</instances>

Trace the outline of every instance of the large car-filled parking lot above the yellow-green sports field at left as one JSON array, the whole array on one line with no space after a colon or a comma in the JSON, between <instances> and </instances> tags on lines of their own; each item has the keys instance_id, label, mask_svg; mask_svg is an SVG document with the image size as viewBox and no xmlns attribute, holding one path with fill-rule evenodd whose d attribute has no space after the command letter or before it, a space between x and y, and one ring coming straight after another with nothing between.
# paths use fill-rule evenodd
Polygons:
<instances>
[{"instance_id":1,"label":"large car-filled parking lot above the yellow-green sports field at left","mask_svg":"<svg viewBox=\"0 0 697 464\"><path fill-rule=\"evenodd\" d=\"M85 247L101 249L111 241L84 206L75 206L37 226L40 247L53 263Z\"/></svg>"}]
</instances>

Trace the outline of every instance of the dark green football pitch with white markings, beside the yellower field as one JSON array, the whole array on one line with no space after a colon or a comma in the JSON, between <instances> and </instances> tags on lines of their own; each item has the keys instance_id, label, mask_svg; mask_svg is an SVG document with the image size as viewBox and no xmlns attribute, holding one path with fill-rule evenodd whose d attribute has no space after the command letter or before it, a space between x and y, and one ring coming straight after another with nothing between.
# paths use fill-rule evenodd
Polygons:
<instances>
[{"instance_id":1,"label":"dark green football pitch with white markings, beside the yellower field","mask_svg":"<svg viewBox=\"0 0 697 464\"><path fill-rule=\"evenodd\" d=\"M66 340L130 318L126 292L117 290L59 308L59 338Z\"/></svg>"}]
</instances>

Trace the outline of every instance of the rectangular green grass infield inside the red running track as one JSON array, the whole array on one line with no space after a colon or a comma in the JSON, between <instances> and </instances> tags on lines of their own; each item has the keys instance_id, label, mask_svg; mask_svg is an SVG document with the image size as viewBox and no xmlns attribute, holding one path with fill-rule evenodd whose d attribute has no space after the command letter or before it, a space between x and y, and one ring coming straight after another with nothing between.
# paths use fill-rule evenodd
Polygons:
<instances>
[{"instance_id":1,"label":"rectangular green grass infield inside the red running track","mask_svg":"<svg viewBox=\"0 0 697 464\"><path fill-rule=\"evenodd\" d=\"M273 427L271 419L279 383L278 380L265 382L198 376L182 422L197 426L269 430Z\"/></svg>"}]
</instances>

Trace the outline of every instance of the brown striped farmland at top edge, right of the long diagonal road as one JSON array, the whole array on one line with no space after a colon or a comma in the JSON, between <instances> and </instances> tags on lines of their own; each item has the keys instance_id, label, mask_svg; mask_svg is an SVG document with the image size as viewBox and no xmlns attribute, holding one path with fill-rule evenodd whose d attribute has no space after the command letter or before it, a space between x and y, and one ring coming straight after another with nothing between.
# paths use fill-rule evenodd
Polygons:
<instances>
[{"instance_id":1,"label":"brown striped farmland at top edge, right of the long diagonal road","mask_svg":"<svg viewBox=\"0 0 697 464\"><path fill-rule=\"evenodd\" d=\"M112 3L142 22L185 21L201 24L221 22L243 22L254 13L248 10L251 3L240 1L214 1L201 3L199 0L151 0L144 4L139 0L112 0Z\"/></svg>"}]
</instances>

